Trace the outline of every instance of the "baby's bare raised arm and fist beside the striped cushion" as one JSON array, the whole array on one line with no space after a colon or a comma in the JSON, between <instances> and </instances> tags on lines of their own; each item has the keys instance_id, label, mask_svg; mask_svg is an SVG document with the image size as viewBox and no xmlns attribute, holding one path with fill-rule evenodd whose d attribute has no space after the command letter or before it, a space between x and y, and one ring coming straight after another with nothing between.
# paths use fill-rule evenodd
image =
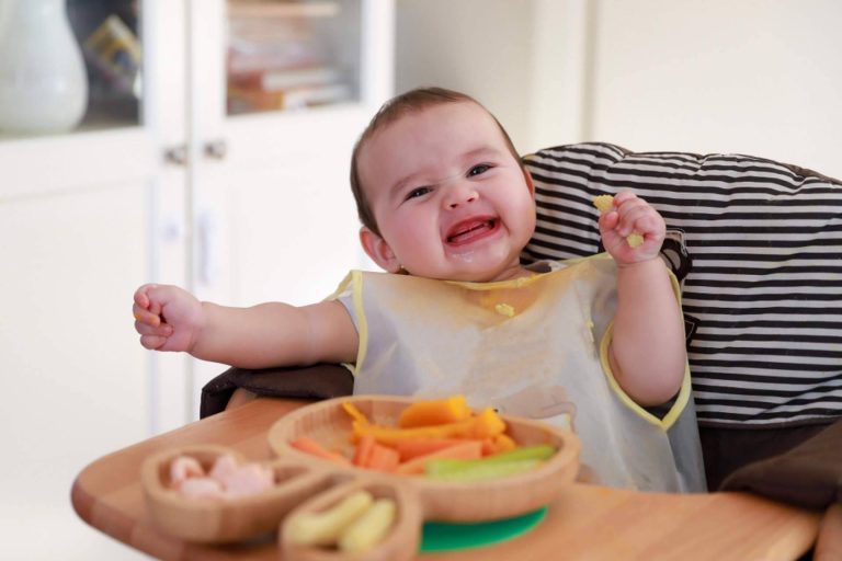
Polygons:
<instances>
[{"instance_id":1,"label":"baby's bare raised arm and fist beside the striped cushion","mask_svg":"<svg viewBox=\"0 0 842 561\"><path fill-rule=\"evenodd\" d=\"M663 218L634 193L614 197L600 217L605 249L617 264L617 312L608 348L614 377L640 405L658 405L678 392L684 377L684 321L667 265L658 256ZM642 237L632 247L627 238Z\"/></svg>"}]
</instances>

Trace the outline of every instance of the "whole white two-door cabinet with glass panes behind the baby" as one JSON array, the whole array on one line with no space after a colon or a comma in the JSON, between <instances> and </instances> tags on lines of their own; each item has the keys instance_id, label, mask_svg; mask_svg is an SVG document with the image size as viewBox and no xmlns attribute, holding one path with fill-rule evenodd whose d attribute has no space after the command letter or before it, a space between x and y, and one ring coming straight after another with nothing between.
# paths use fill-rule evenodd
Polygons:
<instances>
[{"instance_id":1,"label":"whole white two-door cabinet with glass panes behind the baby","mask_svg":"<svg viewBox=\"0 0 842 561\"><path fill-rule=\"evenodd\" d=\"M232 305L305 302L363 263L346 176L352 142L390 94L391 1L68 0L68 10L83 38L99 23L84 13L125 18L134 4L139 101L91 77L78 130L0 130L3 558L49 558L56 543L65 559L99 557L71 513L75 474L195 419L198 388L224 369L139 346L139 284ZM291 10L318 28L334 87L319 106L300 92L284 108L249 106L226 89L229 23L243 9Z\"/></svg>"}]
</instances>

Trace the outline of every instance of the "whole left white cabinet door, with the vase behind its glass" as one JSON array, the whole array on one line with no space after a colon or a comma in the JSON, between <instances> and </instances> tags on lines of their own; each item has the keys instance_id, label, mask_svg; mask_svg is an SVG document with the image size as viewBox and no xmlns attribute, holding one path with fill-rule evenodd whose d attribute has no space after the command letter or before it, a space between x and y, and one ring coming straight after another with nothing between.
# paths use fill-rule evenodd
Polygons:
<instances>
[{"instance_id":1,"label":"whole left white cabinet door, with the vase behind its glass","mask_svg":"<svg viewBox=\"0 0 842 561\"><path fill-rule=\"evenodd\" d=\"M133 3L68 8L110 7L71 12L83 41L109 15L132 14ZM139 99L90 75L91 102L78 129L0 137L3 558L130 557L71 512L73 478L104 454L184 423L184 360L153 362L137 343L130 312L139 284L183 282L185 172L161 158L168 142L184 138L183 106L167 106L182 99L184 18L177 4L167 2L163 14L143 2L143 26L124 20L136 41L156 46L145 49ZM173 59L160 64L167 57ZM179 391L175 414L161 414Z\"/></svg>"}]
</instances>

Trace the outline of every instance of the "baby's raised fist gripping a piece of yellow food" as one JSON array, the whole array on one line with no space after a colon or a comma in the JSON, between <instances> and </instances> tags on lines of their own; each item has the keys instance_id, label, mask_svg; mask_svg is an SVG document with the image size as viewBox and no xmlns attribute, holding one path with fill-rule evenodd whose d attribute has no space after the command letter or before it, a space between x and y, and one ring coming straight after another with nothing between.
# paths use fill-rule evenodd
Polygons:
<instances>
[{"instance_id":1,"label":"baby's raised fist gripping a piece of yellow food","mask_svg":"<svg viewBox=\"0 0 842 561\"><path fill-rule=\"evenodd\" d=\"M594 199L602 213L600 233L605 251L619 265L630 265L658 256L667 232L661 215L642 198L624 191Z\"/></svg>"}]
</instances>

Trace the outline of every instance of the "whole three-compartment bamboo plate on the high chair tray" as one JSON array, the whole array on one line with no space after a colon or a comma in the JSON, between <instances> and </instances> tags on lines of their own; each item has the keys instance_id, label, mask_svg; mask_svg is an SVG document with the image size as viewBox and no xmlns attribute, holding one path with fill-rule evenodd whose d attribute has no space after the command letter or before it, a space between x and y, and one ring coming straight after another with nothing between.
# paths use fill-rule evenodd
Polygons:
<instances>
[{"instance_id":1,"label":"whole three-compartment bamboo plate on the high chair tray","mask_svg":"<svg viewBox=\"0 0 842 561\"><path fill-rule=\"evenodd\" d=\"M196 458L205 469L224 454L246 458L225 446L197 445L164 450L147 458L141 482L152 523L162 531L196 542L241 541L278 533L283 559L293 561L352 561L412 559L419 550L424 522L479 523L535 512L554 501L572 483L579 467L579 440L570 432L544 423L503 416L507 434L519 446L549 444L557 451L536 469L499 479L474 482L435 481L423 476L398 476L314 457L289 443L308 436L327 447L346 447L350 456L351 419L342 409L352 402L373 423L396 425L411 398L354 396L321 401L298 409L269 431L269 445L277 457L263 461L272 469L274 486L260 494L236 499L185 497L170 486L169 466L179 455ZM389 533L363 554L299 546L285 531L298 514L330 508L349 494L368 491L389 497L397 516Z\"/></svg>"}]
</instances>

